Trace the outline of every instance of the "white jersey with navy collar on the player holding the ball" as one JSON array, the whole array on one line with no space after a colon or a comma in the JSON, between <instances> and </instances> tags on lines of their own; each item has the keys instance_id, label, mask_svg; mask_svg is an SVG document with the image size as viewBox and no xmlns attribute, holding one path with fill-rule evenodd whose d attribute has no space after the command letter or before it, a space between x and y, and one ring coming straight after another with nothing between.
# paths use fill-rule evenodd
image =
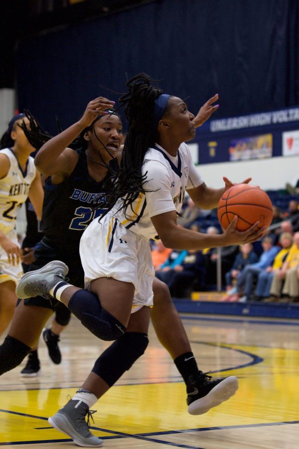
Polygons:
<instances>
[{"instance_id":1,"label":"white jersey with navy collar on the player holding the ball","mask_svg":"<svg viewBox=\"0 0 299 449\"><path fill-rule=\"evenodd\" d=\"M177 155L170 156L162 147L155 145L147 151L142 166L142 174L147 173L144 184L146 192L140 194L126 216L118 200L111 214L124 225L146 239L155 238L155 230L150 218L165 212L180 212L185 190L193 189L203 183L203 179L194 166L190 150L185 143L179 146Z\"/></svg>"}]
</instances>

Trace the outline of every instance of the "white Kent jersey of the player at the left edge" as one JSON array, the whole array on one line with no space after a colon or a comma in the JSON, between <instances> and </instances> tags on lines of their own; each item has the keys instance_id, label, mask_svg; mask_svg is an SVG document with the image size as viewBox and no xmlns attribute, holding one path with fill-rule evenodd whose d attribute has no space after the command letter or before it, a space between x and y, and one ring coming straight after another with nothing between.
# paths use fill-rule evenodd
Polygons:
<instances>
[{"instance_id":1,"label":"white Kent jersey of the player at the left edge","mask_svg":"<svg viewBox=\"0 0 299 449\"><path fill-rule=\"evenodd\" d=\"M0 179L0 229L6 234L15 227L19 207L28 198L36 168L31 156L23 173L11 149L4 148L0 154L5 154L10 162L7 175Z\"/></svg>"}]
</instances>

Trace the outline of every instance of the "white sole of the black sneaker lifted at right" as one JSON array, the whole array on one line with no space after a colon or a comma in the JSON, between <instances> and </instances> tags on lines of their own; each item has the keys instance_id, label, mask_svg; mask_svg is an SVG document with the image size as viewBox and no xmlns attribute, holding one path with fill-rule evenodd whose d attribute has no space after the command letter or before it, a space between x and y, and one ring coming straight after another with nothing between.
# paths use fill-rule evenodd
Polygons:
<instances>
[{"instance_id":1,"label":"white sole of the black sneaker lifted at right","mask_svg":"<svg viewBox=\"0 0 299 449\"><path fill-rule=\"evenodd\" d=\"M217 407L224 401L234 396L238 390L239 383L235 376L230 376L214 387L206 396L192 402L188 406L190 415L202 415L213 407Z\"/></svg>"}]
</instances>

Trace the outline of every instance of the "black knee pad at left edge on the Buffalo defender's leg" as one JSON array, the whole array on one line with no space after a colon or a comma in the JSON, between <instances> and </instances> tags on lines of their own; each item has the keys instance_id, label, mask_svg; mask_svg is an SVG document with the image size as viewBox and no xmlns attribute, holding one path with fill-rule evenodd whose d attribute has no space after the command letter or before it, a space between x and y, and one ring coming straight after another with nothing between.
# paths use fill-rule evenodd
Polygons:
<instances>
[{"instance_id":1,"label":"black knee pad at left edge on the Buffalo defender's leg","mask_svg":"<svg viewBox=\"0 0 299 449\"><path fill-rule=\"evenodd\" d=\"M18 366L30 351L29 346L7 335L0 346L0 375Z\"/></svg>"}]
</instances>

